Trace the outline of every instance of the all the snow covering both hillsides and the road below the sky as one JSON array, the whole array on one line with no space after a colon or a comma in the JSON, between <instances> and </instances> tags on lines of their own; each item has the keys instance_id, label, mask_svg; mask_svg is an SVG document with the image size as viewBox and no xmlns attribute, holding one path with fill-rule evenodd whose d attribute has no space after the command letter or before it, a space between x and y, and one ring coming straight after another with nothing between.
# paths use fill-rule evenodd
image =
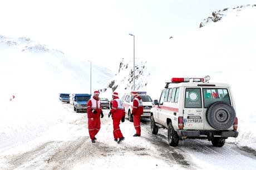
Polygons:
<instances>
[{"instance_id":1,"label":"all the snow covering both hillsides and the road below the sky","mask_svg":"<svg viewBox=\"0 0 256 170\"><path fill-rule=\"evenodd\" d=\"M134 127L127 120L120 125L125 141L117 145L106 110L97 143L92 145L86 114L76 114L71 104L58 100L60 92L90 92L90 63L29 38L0 35L0 168L182 169L186 164L189 168L255 168L255 155L245 155L230 144L256 150L255 16L256 7L228 11L218 22L159 43L135 61L135 89L147 91L152 99L159 99L172 77L210 75L211 82L228 83L239 136L229 138L223 148L199 140L169 147L166 130L152 136L149 124L134 140ZM132 71L131 59L121 61L115 77L110 70L92 64L92 91L101 89L100 97L110 99L115 89L121 97L132 90ZM180 160L173 154L179 154Z\"/></svg>"}]
</instances>

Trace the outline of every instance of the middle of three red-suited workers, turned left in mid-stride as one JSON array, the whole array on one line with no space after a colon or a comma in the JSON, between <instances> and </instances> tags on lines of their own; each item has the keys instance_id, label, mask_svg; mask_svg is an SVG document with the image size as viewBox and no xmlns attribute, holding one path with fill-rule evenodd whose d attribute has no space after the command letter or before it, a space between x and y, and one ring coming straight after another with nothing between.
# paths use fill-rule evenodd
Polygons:
<instances>
[{"instance_id":1,"label":"middle of three red-suited workers, turned left in mid-stride","mask_svg":"<svg viewBox=\"0 0 256 170\"><path fill-rule=\"evenodd\" d=\"M125 121L125 107L122 101L118 97L118 93L114 92L112 94L112 109L109 112L109 117L112 115L112 120L113 120L113 134L114 134L114 140L117 143L120 143L123 141L125 138L122 136L122 132L120 130L120 121L124 122ZM119 139L119 140L118 140Z\"/></svg>"}]
</instances>

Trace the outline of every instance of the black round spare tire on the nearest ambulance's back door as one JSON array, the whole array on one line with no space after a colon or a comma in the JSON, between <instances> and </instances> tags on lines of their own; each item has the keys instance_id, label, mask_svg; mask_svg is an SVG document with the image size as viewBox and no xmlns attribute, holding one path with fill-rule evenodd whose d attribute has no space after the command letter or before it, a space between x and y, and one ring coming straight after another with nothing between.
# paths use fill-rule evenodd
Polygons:
<instances>
[{"instance_id":1,"label":"black round spare tire on the nearest ambulance's back door","mask_svg":"<svg viewBox=\"0 0 256 170\"><path fill-rule=\"evenodd\" d=\"M216 130L227 130L235 122L235 110L227 102L214 102L206 110L206 120Z\"/></svg>"}]
</instances>

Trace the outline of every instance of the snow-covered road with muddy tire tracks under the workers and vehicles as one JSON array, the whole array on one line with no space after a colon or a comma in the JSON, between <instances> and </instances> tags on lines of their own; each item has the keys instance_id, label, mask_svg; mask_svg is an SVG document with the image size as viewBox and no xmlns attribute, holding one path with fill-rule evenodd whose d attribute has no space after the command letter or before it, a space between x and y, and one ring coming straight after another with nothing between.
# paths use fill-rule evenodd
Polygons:
<instances>
[{"instance_id":1,"label":"snow-covered road with muddy tire tracks under the workers and vehicles","mask_svg":"<svg viewBox=\"0 0 256 170\"><path fill-rule=\"evenodd\" d=\"M134 125L127 119L120 123L125 140L114 141L112 119L104 110L101 129L92 143L87 115L69 112L44 135L0 153L1 169L255 169L255 155L227 143L213 147L209 141L186 140L170 147L167 130L152 135L150 122L141 122L141 137L133 137ZM239 161L236 161L239 160Z\"/></svg>"}]
</instances>

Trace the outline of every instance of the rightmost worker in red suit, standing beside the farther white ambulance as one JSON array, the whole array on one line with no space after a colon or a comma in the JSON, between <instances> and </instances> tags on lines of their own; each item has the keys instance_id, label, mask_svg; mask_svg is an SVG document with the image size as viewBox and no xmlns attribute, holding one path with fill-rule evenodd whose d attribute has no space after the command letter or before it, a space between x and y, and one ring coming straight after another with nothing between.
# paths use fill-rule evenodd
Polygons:
<instances>
[{"instance_id":1,"label":"rightmost worker in red suit, standing beside the farther white ambulance","mask_svg":"<svg viewBox=\"0 0 256 170\"><path fill-rule=\"evenodd\" d=\"M133 107L132 107L132 115L134 117L134 127L136 130L136 133L134 136L140 136L140 119L141 115L143 114L143 105L142 105L142 99L140 96L138 96L136 91L132 92L132 96L134 96L133 101Z\"/></svg>"}]
</instances>

